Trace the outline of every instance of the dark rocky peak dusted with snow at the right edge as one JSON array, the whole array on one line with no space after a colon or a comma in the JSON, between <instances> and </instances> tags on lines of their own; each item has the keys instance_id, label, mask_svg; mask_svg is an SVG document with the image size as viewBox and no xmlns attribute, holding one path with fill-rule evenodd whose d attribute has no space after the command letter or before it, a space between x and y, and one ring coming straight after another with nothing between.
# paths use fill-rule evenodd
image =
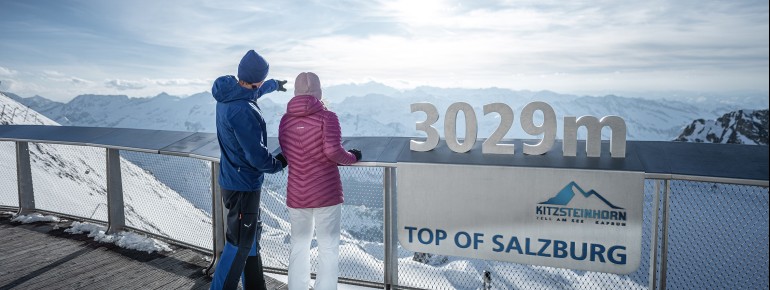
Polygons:
<instances>
[{"instance_id":1,"label":"dark rocky peak dusted with snow at the right edge","mask_svg":"<svg viewBox=\"0 0 770 290\"><path fill-rule=\"evenodd\" d=\"M716 120L698 119L675 141L768 145L768 110L738 110Z\"/></svg>"}]
</instances>

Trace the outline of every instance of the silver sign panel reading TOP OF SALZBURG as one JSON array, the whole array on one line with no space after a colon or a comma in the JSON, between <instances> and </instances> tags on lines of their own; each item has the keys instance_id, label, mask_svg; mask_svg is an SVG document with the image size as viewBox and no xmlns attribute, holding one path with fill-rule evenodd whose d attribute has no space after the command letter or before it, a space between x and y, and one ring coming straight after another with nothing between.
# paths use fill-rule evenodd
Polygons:
<instances>
[{"instance_id":1,"label":"silver sign panel reading TOP OF SALZBURG","mask_svg":"<svg viewBox=\"0 0 770 290\"><path fill-rule=\"evenodd\" d=\"M415 252L628 274L644 173L399 163L398 239Z\"/></svg>"}]
</instances>

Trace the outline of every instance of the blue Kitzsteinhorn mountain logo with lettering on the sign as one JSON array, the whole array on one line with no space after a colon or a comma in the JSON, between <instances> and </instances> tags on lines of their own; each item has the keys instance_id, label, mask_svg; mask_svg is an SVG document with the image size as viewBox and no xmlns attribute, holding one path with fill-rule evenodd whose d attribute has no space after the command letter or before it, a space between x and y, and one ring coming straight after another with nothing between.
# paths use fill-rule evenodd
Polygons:
<instances>
[{"instance_id":1,"label":"blue Kitzsteinhorn mountain logo with lettering on the sign","mask_svg":"<svg viewBox=\"0 0 770 290\"><path fill-rule=\"evenodd\" d=\"M578 199L583 200L574 202ZM576 203L591 205L577 207L574 205ZM583 190L574 181L556 193L556 196L535 205L535 216L537 220L550 222L626 226L624 208L612 204L593 189Z\"/></svg>"}]
</instances>

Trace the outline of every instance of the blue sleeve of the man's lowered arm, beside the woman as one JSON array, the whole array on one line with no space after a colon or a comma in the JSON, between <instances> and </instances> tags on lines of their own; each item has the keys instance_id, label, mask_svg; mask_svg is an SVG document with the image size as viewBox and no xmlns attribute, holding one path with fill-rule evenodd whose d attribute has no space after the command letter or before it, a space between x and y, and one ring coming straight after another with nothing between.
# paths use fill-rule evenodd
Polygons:
<instances>
[{"instance_id":1,"label":"blue sleeve of the man's lowered arm, beside the woman","mask_svg":"<svg viewBox=\"0 0 770 290\"><path fill-rule=\"evenodd\" d=\"M265 173L281 171L281 161L276 160L267 151L267 144L262 143L262 128L255 114L257 112L241 109L234 115L232 123L235 139L252 167Z\"/></svg>"}]
</instances>

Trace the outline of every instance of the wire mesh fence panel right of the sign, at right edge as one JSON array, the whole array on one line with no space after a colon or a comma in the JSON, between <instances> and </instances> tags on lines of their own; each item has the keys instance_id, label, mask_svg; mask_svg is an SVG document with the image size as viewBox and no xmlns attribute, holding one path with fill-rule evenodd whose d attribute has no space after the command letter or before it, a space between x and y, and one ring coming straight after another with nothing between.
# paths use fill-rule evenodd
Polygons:
<instances>
[{"instance_id":1,"label":"wire mesh fence panel right of the sign, at right edge","mask_svg":"<svg viewBox=\"0 0 770 290\"><path fill-rule=\"evenodd\" d=\"M768 189L673 181L670 289L768 288Z\"/></svg>"}]
</instances>

